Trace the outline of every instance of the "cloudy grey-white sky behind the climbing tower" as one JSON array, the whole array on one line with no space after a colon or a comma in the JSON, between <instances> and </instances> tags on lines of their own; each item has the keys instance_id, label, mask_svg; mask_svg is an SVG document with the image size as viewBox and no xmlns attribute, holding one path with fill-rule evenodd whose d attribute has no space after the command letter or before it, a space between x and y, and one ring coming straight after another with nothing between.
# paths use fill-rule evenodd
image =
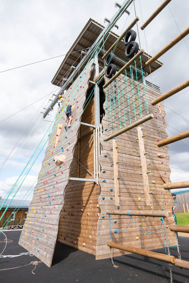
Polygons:
<instances>
[{"instance_id":1,"label":"cloudy grey-white sky behind the climbing tower","mask_svg":"<svg viewBox=\"0 0 189 283\"><path fill-rule=\"evenodd\" d=\"M48 131L48 121L52 121L53 113L46 117L45 120L48 121L44 121L40 112L52 94L58 92L58 88L50 82L64 56L10 71L5 70L66 54L90 17L100 24L104 24L105 17L111 19L118 9L114 3L115 0L0 0L0 164L14 148L8 162L1 167L0 196L5 197ZM162 0L140 0L140 3L135 0L136 15L140 18L139 27L142 18L145 21ZM134 6L130 6L128 10L130 9L128 24L135 17ZM169 7L146 27L147 47L144 31L139 29L141 48L146 52L148 49L150 55L156 54L188 27L188 14L189 1L180 0L178 4L177 0L172 0ZM119 20L118 30L113 29L118 35L122 32L126 17L125 13ZM182 40L159 59L164 65L152 74L152 80L160 86L162 93L188 79L189 51L186 45L189 47L189 36L185 37L185 42ZM148 76L147 80L151 81L151 77ZM189 89L185 89L165 101L165 107L168 107L165 109L169 136L188 130L188 94ZM30 104L32 105L29 106ZM24 109L25 107L27 108ZM16 112L19 113L15 114ZM56 114L56 107L54 112ZM30 129L22 136L28 124ZM168 153L172 182L189 180L189 139L170 145ZM16 199L22 199L35 182L43 157L44 150L22 184ZM31 198L32 193L28 199Z\"/></svg>"}]
</instances>

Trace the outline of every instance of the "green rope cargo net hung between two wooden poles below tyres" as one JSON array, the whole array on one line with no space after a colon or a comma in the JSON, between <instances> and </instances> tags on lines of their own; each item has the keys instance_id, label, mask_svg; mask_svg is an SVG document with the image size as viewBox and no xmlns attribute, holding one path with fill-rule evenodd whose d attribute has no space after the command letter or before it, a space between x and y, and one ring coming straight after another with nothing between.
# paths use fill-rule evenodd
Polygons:
<instances>
[{"instance_id":1,"label":"green rope cargo net hung between two wooden poles below tyres","mask_svg":"<svg viewBox=\"0 0 189 283\"><path fill-rule=\"evenodd\" d=\"M141 56L106 87L107 136L148 115Z\"/></svg>"}]
</instances>

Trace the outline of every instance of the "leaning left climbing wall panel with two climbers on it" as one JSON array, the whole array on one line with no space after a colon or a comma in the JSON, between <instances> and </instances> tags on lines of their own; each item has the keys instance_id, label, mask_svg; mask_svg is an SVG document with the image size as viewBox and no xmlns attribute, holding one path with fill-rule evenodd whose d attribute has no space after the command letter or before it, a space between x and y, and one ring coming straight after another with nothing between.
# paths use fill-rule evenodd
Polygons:
<instances>
[{"instance_id":1,"label":"leaning left climbing wall panel with two climbers on it","mask_svg":"<svg viewBox=\"0 0 189 283\"><path fill-rule=\"evenodd\" d=\"M19 239L19 244L22 247L34 253L49 267L53 259L58 223L64 203L63 196L69 182L69 171L73 160L74 147L77 143L93 61L92 59L88 63L64 94L66 100L56 116L55 124L49 135L38 183L34 189L27 220ZM71 128L66 131L64 129L66 124L65 106L74 101L77 103L75 103L72 113ZM65 155L66 157L64 163L60 166L57 166L53 161L58 155Z\"/></svg>"}]
</instances>

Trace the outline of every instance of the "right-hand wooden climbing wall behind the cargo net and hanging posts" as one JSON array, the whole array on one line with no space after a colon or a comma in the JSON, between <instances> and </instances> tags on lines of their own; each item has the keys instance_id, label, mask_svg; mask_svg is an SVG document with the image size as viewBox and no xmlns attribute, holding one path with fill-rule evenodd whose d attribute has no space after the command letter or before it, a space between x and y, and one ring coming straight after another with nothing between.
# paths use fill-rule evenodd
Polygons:
<instances>
[{"instance_id":1,"label":"right-hand wooden climbing wall behind the cargo net and hanging posts","mask_svg":"<svg viewBox=\"0 0 189 283\"><path fill-rule=\"evenodd\" d=\"M121 75L119 76L118 81L120 79ZM99 176L99 184L101 187L101 194L99 197L101 216L99 218L97 226L96 259L110 257L110 248L106 245L107 241L110 241L109 216L106 214L106 212L108 209L118 210L118 207L115 207L115 187L113 180L113 142L112 140L105 142L104 139L107 137L107 135L111 135L111 133L114 133L115 131L120 130L120 128L122 129L123 127L129 125L130 122L135 122L134 114L133 118L131 118L130 120L129 112L128 114L126 114L126 108L124 109L124 113L123 107L121 107L121 104L123 105L123 101L118 100L118 96L116 97L115 91L111 91L111 89L113 89L113 86L119 89L124 89L123 97L125 97L125 107L128 107L127 101L129 93L129 99L133 100L134 98L133 105L130 105L130 107L139 106L138 97L141 97L140 104L143 105L141 109L144 109L146 102L148 106L148 109L147 107L145 107L145 110L142 112L142 116L144 117L148 113L154 114L154 118L144 123L143 125L144 148L145 151L148 152L148 154L145 155L146 166L147 170L151 171L151 173L148 174L150 196L153 204L152 208L154 210L166 210L170 212L170 217L168 219L166 218L165 223L167 226L169 226L170 223L172 224L171 206L173 199L170 196L170 192L164 191L162 187L163 181L160 175L162 174L164 178L166 178L166 181L170 182L170 167L168 165L169 156L167 154L168 146L165 146L163 149L157 147L157 141L160 139L160 132L162 139L167 138L163 102L160 104L161 114L159 114L160 108L151 106L150 103L154 99L154 96L159 96L159 93L146 86L144 88L144 85L142 83L137 84L136 82L133 82L131 84L131 79L128 79L127 83L123 82L123 84L117 81L113 81L110 84L110 87L107 87L107 90L104 91L105 95L108 97L108 101L107 103L104 103L105 117L102 119L102 126L104 131L100 138L100 143L102 145L102 153L100 155L100 165L102 171ZM135 87L137 89L136 92L139 91L137 97L135 97L135 94L133 96L133 89L135 89ZM146 94L146 99L144 92ZM113 115L111 115L110 113L110 103L112 103L113 105L113 115L116 116L116 119L120 122L117 123L117 126L116 121L112 119ZM131 112L133 112L134 110L130 110L131 114ZM139 120L141 118L141 112L139 113L139 115L138 112L140 111L136 111L136 120ZM125 123L127 119L128 121ZM108 121L111 121L111 123L109 123ZM116 139L116 145L118 155L120 207L122 210L127 211L144 210L145 199L143 179L142 175L140 175L140 153L136 128L123 133L122 135L119 135ZM158 157L158 154L165 157ZM152 208L146 206L146 210L151 210ZM166 240L164 239L165 230L162 226L162 235L162 230L160 228L162 221L160 220L160 217L133 216L132 219L136 224L133 223L132 220L130 222L130 217L128 215L111 215L111 241L144 249L160 248L164 246L164 241L166 242ZM146 232L140 230L139 227ZM124 229L126 229L124 232L120 232ZM159 230L156 233L150 233L156 231L157 229ZM167 235L170 245L175 245L175 234L171 232L169 228L167 228ZM125 251L112 248L113 256L118 256L126 253L127 252Z\"/></svg>"}]
</instances>

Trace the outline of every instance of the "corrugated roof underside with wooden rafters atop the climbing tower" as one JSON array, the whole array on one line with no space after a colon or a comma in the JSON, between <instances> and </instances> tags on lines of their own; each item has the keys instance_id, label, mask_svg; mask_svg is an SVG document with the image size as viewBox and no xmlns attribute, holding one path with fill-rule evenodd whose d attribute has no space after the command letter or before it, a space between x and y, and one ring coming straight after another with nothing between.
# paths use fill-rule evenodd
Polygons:
<instances>
[{"instance_id":1,"label":"corrugated roof underside with wooden rafters atop the climbing tower","mask_svg":"<svg viewBox=\"0 0 189 283\"><path fill-rule=\"evenodd\" d=\"M65 56L63 59L60 67L58 68L58 71L56 72L55 76L53 77L53 80L51 81L52 84L61 86L62 84L62 78L66 78L68 76L68 72L71 66L76 67L79 62L81 61L81 51L82 49L87 49L92 46L92 44L95 42L97 37L100 35L104 27L99 24L98 22L94 21L93 19L89 19L87 24L84 26L83 30L80 32L78 37L76 38L75 42L67 52L68 55ZM105 41L105 50L108 50L113 43L118 39L118 35L116 35L114 32L111 32L110 35L108 35L107 40ZM121 58L124 61L128 61L128 59L125 57L125 45L123 45L123 40L120 41L114 51L114 54ZM103 48L99 53L100 56L103 56ZM150 56L151 58L151 56ZM100 58L99 58L100 59ZM145 63L149 60L148 55L145 53L141 56L142 60L142 67L143 71L146 73L150 73L149 67L145 65ZM102 60L103 62L103 60ZM124 66L123 63L120 63L118 61L115 61L115 64L120 69ZM155 61L150 65L151 72L157 70L159 67L161 67L163 64L159 62L158 60ZM103 66L103 65L102 65ZM69 72L69 75L74 71L74 69ZM69 76L68 76L69 77Z\"/></svg>"}]
</instances>

